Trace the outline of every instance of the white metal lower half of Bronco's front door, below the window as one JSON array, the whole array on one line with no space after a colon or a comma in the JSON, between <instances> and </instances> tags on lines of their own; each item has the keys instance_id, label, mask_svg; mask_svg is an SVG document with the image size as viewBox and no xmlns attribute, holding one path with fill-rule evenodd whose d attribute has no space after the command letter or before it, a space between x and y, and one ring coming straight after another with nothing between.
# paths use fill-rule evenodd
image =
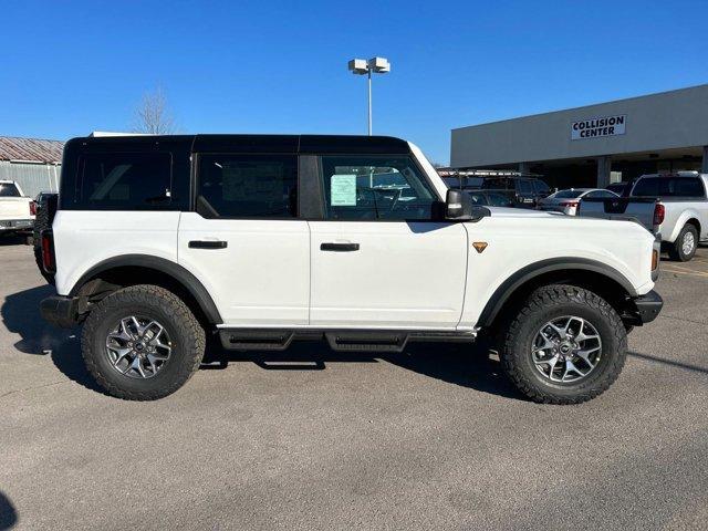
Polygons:
<instances>
[{"instance_id":1,"label":"white metal lower half of Bronco's front door, below the window","mask_svg":"<svg viewBox=\"0 0 708 531\"><path fill-rule=\"evenodd\" d=\"M462 313L462 223L311 221L315 327L454 329ZM352 252L322 243L358 243Z\"/></svg>"}]
</instances>

